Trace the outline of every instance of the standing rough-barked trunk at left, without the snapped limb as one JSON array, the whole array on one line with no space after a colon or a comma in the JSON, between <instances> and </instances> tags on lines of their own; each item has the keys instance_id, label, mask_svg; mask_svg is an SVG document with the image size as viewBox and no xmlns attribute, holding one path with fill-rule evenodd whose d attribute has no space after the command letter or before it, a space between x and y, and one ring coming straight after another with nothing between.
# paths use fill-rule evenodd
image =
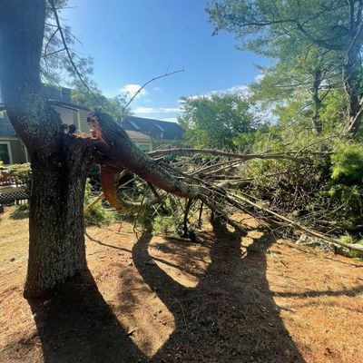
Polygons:
<instances>
[{"instance_id":1,"label":"standing rough-barked trunk at left, without the snapped limb","mask_svg":"<svg viewBox=\"0 0 363 363\"><path fill-rule=\"evenodd\" d=\"M64 135L40 82L44 0L5 2L0 79L5 109L33 170L25 297L37 297L85 268L83 195L91 141Z\"/></svg>"}]
</instances>

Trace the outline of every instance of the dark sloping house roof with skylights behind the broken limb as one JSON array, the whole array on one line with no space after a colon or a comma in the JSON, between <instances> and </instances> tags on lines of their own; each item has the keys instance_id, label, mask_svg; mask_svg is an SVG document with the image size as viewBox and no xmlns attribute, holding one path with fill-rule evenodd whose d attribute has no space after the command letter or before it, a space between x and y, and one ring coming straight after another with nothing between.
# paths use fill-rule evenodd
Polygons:
<instances>
[{"instance_id":1,"label":"dark sloping house roof with skylights behind the broken limb","mask_svg":"<svg viewBox=\"0 0 363 363\"><path fill-rule=\"evenodd\" d=\"M178 123L127 116L123 120L125 130L143 132L155 139L182 140L184 129Z\"/></svg>"}]
</instances>

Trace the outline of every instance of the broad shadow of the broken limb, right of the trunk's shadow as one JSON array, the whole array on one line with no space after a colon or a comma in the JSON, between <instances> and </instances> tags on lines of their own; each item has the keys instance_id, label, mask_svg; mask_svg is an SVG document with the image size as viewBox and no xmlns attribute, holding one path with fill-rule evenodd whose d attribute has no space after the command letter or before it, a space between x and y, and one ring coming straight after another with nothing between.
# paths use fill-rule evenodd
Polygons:
<instances>
[{"instance_id":1,"label":"broad shadow of the broken limb, right of the trunk's shadow","mask_svg":"<svg viewBox=\"0 0 363 363\"><path fill-rule=\"evenodd\" d=\"M196 288L185 288L158 265L145 266L145 260L152 260L150 230L133 247L135 267L175 319L172 335L150 361L305 362L266 279L266 251L273 238L254 240L242 257L240 234L223 225L199 237L210 250L211 263ZM182 249L182 242L168 242L168 253Z\"/></svg>"}]
</instances>

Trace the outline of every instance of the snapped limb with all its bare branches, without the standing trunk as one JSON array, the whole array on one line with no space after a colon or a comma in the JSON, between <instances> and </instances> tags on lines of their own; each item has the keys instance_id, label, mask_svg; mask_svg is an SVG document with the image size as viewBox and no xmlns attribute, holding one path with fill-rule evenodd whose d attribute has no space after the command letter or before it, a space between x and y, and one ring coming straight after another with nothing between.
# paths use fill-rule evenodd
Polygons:
<instances>
[{"instance_id":1,"label":"snapped limb with all its bare branches, without the standing trunk","mask_svg":"<svg viewBox=\"0 0 363 363\"><path fill-rule=\"evenodd\" d=\"M294 162L306 162L307 160L311 160L309 158L297 158L296 155L291 154L291 152L237 154L233 152L184 148L149 152L148 155L146 155L131 142L126 132L124 132L117 123L114 123L111 117L107 114L97 112L94 114L90 122L92 123L93 129L96 130L95 132L93 131L93 134L97 135L97 138L100 139L100 145L102 147L100 152L103 152L103 155L107 160L107 162L103 165L103 178L108 179L107 184L104 184L103 182L104 195L116 209L122 209L123 211L137 211L141 206L141 203L124 201L120 195L117 195L118 176L120 169L123 168L137 174L140 178L142 178L142 180L150 183L153 188L160 188L163 191L170 192L177 197L187 198L190 201L187 203L187 208L184 211L184 231L187 230L186 223L192 200L200 200L222 220L229 223L237 231L242 232L245 231L243 227L241 227L236 221L231 220L231 213L227 211L223 205L227 203L231 205L232 208L246 212L246 207L243 204L247 204L250 207L253 207L254 210L257 210L262 214L269 214L276 220L285 223L285 226L293 227L295 230L302 231L309 236L325 240L349 250L359 252L363 251L362 246L352 243L344 243L340 240L327 237L326 235L319 233L319 231L310 230L297 221L292 221L276 211L272 211L254 201L250 201L250 199L241 196L240 194L226 191L226 189L223 188L225 185L231 187L231 182L228 183L229 178L231 178L231 181L237 182L236 185L240 185L241 182L253 182L253 179L241 178L239 168L242 167L242 162L252 159L280 159L291 160ZM210 165L208 165L207 162L201 166L200 160L198 161L198 159L196 159L193 164L191 163L191 160L189 160L189 162L175 162L175 165L173 165L172 162L156 162L150 157L164 154L194 155L196 153L211 154L218 158L213 161L214 163L211 162ZM237 159L237 161L235 161L235 159ZM229 170L232 175L226 176L219 174L226 170ZM203 172L206 173L203 174ZM279 176L282 174L283 172L278 172L276 174L266 176ZM213 177L216 178L213 179ZM227 184L213 183L213 180L214 182L218 182L221 180L221 177L226 178ZM152 195L152 198L143 202L143 205L162 202L162 199L158 197L156 189L153 189L152 192L154 194ZM262 215L257 217L266 219L266 217Z\"/></svg>"}]
</instances>

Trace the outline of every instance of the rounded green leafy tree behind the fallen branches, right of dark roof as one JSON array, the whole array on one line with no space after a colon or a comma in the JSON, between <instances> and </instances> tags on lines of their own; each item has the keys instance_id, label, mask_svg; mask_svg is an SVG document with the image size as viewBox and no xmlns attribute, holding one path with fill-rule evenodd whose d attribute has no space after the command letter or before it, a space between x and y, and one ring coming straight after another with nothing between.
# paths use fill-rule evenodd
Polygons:
<instances>
[{"instance_id":1,"label":"rounded green leafy tree behind the fallen branches, right of dark roof","mask_svg":"<svg viewBox=\"0 0 363 363\"><path fill-rule=\"evenodd\" d=\"M257 126L251 106L250 100L238 93L183 97L179 123L192 145L233 150L233 137Z\"/></svg>"}]
</instances>

